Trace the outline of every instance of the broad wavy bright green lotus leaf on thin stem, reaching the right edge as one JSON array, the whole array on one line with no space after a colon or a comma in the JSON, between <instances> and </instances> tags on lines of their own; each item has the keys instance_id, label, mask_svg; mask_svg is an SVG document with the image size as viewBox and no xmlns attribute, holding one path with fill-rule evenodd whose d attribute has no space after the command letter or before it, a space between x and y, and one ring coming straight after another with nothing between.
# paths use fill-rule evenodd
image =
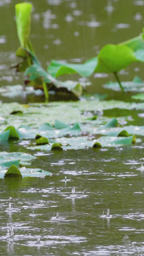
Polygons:
<instances>
[{"instance_id":1,"label":"broad wavy bright green lotus leaf on thin stem, reaching the right edge","mask_svg":"<svg viewBox=\"0 0 144 256\"><path fill-rule=\"evenodd\" d=\"M97 57L86 61L84 64L51 61L48 72L54 77L70 73L78 73L81 76L90 76L93 72L113 73L120 89L124 91L118 72L135 61L144 62L144 32L139 37L134 37L119 45L108 44L104 46Z\"/></svg>"}]
</instances>

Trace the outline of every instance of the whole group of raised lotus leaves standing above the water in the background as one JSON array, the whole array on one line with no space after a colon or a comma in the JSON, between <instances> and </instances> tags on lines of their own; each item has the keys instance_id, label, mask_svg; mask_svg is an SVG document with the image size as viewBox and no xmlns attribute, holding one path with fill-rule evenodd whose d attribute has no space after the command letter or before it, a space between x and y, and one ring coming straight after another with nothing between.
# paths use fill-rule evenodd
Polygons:
<instances>
[{"instance_id":1,"label":"whole group of raised lotus leaves standing above the water in the background","mask_svg":"<svg viewBox=\"0 0 144 256\"><path fill-rule=\"evenodd\" d=\"M17 71L24 71L24 76L28 76L28 81L31 81L31 84L35 87L43 85L46 100L48 100L48 90L71 93L76 98L81 96L82 85L73 81L61 82L57 79L60 75L71 73L78 73L83 77L88 77L94 72L113 73L120 85L120 89L123 91L118 72L135 61L144 62L143 31L140 36L119 45L108 44L104 46L96 57L86 61L84 64L51 61L48 70L45 71L37 60L29 40L32 4L19 3L16 4L15 9L17 34L21 44L21 47L16 51L16 55L24 59L15 67Z\"/></svg>"}]
</instances>

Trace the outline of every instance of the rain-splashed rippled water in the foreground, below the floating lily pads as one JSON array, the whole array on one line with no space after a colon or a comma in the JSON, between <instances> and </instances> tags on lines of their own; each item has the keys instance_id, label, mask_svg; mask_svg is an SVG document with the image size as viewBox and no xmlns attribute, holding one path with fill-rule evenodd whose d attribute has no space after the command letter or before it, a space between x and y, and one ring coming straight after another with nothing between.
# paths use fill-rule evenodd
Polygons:
<instances>
[{"instance_id":1,"label":"rain-splashed rippled water in the foreground, below the floating lily pads","mask_svg":"<svg viewBox=\"0 0 144 256\"><path fill-rule=\"evenodd\" d=\"M47 168L52 177L0 180L0 251L143 255L142 162L143 149L135 146L45 153L34 166Z\"/></svg>"}]
</instances>

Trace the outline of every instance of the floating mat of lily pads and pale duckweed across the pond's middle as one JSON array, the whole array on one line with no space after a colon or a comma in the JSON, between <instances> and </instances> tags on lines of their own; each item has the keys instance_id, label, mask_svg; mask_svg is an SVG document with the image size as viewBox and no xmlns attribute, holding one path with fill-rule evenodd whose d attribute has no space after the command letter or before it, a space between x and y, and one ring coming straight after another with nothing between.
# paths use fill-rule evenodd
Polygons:
<instances>
[{"instance_id":1,"label":"floating mat of lily pads and pale duckweed across the pond's middle","mask_svg":"<svg viewBox=\"0 0 144 256\"><path fill-rule=\"evenodd\" d=\"M101 147L119 147L140 142L140 139L136 139L134 134L143 136L144 126L123 126L123 121L124 123L129 122L129 117L109 119L101 115L94 115L94 110L113 109L115 107L143 109L144 103L124 104L124 102L114 100L100 101L95 99L92 101L89 99L85 101L85 104L81 101L50 104L33 103L25 106L18 103L1 104L1 128L4 131L0 133L0 143L5 145L6 141L10 143L11 140L14 140L19 144L19 141L23 140L20 145L24 145L24 148L32 151L61 152L70 149L92 150L93 148L97 152ZM65 109L68 110L68 118L64 116ZM49 112L52 114L49 115ZM63 119L53 122L54 116L60 116L59 113ZM41 116L42 119L40 119ZM67 120L67 123L62 122L64 119ZM44 120L47 123L44 123ZM73 120L77 122L74 123ZM15 127L8 125L12 122L15 123ZM24 124L22 125L22 123ZM5 153L4 155L0 153L0 177L4 177L7 169L12 165L19 168L23 177L49 175L47 171L27 168L28 158L33 160L35 157L22 153ZM24 167L21 167L22 165ZM12 167L8 172L10 176L12 170L17 169Z\"/></svg>"}]
</instances>

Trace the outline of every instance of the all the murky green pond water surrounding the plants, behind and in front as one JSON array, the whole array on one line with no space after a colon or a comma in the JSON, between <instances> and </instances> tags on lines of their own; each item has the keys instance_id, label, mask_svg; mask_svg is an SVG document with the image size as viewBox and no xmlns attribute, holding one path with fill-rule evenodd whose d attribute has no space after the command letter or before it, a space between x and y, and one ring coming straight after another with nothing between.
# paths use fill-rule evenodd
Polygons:
<instances>
[{"instance_id":1,"label":"all the murky green pond water surrounding the plants, behind and in front","mask_svg":"<svg viewBox=\"0 0 144 256\"><path fill-rule=\"evenodd\" d=\"M14 6L18 2L0 0L0 86L23 85L22 75L9 69L17 61ZM137 36L144 26L144 0L31 2L31 41L44 68L51 59L84 62L105 44ZM144 80L142 64L120 72L122 81L131 81L134 75ZM122 95L103 88L109 80L114 81L112 75L94 74L86 92L108 94L107 100L132 101L134 93ZM42 101L41 96L0 99ZM121 118L122 125L144 125L143 109L106 108L100 115ZM51 119L54 122L55 116ZM64 122L62 114L61 119ZM14 125L16 121L11 120ZM59 154L32 151L26 147L29 140L0 144L0 152L32 154L36 157L33 168L52 173L41 178L0 179L0 255L144 255L144 137L138 138L142 141L135 145Z\"/></svg>"}]
</instances>

